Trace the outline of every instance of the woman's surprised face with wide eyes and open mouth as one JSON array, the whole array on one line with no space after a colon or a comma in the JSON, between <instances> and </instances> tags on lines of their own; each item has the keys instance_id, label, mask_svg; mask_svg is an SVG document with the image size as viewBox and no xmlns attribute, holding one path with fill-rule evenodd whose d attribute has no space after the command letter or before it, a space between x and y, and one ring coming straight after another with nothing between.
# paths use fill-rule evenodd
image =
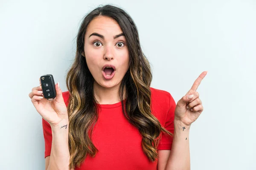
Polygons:
<instances>
[{"instance_id":1,"label":"woman's surprised face with wide eyes and open mouth","mask_svg":"<svg viewBox=\"0 0 256 170\"><path fill-rule=\"evenodd\" d=\"M104 88L119 85L129 68L129 51L122 33L119 24L110 17L96 17L87 26L85 59L95 83ZM115 70L103 70L106 64L113 65Z\"/></svg>"}]
</instances>

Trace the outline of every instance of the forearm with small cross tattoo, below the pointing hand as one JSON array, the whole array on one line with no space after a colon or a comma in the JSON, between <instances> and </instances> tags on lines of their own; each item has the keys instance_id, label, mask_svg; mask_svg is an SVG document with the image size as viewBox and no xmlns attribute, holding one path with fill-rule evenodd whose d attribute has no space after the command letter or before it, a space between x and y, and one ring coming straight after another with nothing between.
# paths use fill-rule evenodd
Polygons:
<instances>
[{"instance_id":1,"label":"forearm with small cross tattoo, below the pointing hand","mask_svg":"<svg viewBox=\"0 0 256 170\"><path fill-rule=\"evenodd\" d=\"M174 138L172 150L165 170L190 170L189 129L182 122L174 119Z\"/></svg>"}]
</instances>

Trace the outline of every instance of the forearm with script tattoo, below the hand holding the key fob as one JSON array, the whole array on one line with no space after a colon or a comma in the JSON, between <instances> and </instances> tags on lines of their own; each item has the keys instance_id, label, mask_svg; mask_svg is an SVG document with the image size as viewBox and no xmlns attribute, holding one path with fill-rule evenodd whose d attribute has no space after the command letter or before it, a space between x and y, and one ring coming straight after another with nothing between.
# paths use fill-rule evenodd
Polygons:
<instances>
[{"instance_id":1,"label":"forearm with script tattoo, below the hand holding the key fob","mask_svg":"<svg viewBox=\"0 0 256 170\"><path fill-rule=\"evenodd\" d=\"M69 122L62 121L52 128L52 148L47 170L69 170L70 152L68 148Z\"/></svg>"}]
</instances>

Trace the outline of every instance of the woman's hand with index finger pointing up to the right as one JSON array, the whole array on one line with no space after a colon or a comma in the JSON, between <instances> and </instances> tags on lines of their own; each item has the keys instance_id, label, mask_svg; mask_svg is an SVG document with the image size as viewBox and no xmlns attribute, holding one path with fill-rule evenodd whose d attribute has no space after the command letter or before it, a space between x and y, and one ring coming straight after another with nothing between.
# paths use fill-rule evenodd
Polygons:
<instances>
[{"instance_id":1,"label":"woman's hand with index finger pointing up to the right","mask_svg":"<svg viewBox=\"0 0 256 170\"><path fill-rule=\"evenodd\" d=\"M190 126L196 119L198 119L204 110L201 99L199 99L199 93L196 90L206 74L207 71L201 73L195 80L192 88L177 102L175 108L176 121L180 121L183 124Z\"/></svg>"}]
</instances>

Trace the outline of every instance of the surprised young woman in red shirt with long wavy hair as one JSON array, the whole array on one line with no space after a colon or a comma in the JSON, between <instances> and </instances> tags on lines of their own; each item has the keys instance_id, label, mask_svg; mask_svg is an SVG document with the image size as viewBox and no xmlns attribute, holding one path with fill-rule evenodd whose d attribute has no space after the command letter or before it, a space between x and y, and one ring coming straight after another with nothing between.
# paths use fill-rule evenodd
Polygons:
<instances>
[{"instance_id":1,"label":"surprised young woman in red shirt with long wavy hair","mask_svg":"<svg viewBox=\"0 0 256 170\"><path fill-rule=\"evenodd\" d=\"M121 8L86 15L77 36L68 91L41 84L29 97L42 116L48 170L189 170L189 129L203 111L196 92L204 71L177 106L150 87L151 68L137 27ZM174 134L174 136L173 136Z\"/></svg>"}]
</instances>

